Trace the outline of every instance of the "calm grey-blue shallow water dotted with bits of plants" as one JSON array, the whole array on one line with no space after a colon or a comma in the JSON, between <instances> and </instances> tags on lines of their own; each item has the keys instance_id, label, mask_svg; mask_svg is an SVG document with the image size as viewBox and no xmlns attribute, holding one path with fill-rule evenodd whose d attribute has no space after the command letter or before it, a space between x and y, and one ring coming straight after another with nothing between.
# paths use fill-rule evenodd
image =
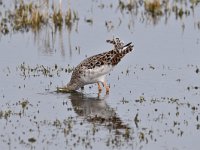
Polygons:
<instances>
[{"instance_id":1,"label":"calm grey-blue shallow water dotted with bits of plants","mask_svg":"<svg viewBox=\"0 0 200 150\"><path fill-rule=\"evenodd\" d=\"M197 149L199 4L192 12L179 2L190 10L182 18L152 19L139 3L128 11L118 1L63 1L63 12L69 2L79 16L72 30L49 23L0 34L0 149ZM14 4L0 7L3 16ZM107 76L109 95L95 84L55 92L81 60L110 50L113 36L134 51Z\"/></svg>"}]
</instances>

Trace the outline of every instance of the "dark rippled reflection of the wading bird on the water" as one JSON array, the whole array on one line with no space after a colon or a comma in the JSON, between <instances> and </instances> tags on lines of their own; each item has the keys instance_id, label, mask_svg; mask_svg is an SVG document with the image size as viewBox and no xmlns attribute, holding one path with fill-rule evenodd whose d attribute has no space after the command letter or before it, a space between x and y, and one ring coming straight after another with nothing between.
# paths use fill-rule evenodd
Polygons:
<instances>
[{"instance_id":1,"label":"dark rippled reflection of the wading bird on the water","mask_svg":"<svg viewBox=\"0 0 200 150\"><path fill-rule=\"evenodd\" d=\"M109 129L128 129L117 116L115 110L107 103L108 95L94 97L83 93L71 93L72 107L78 116L84 117L88 122L106 126Z\"/></svg>"}]
</instances>

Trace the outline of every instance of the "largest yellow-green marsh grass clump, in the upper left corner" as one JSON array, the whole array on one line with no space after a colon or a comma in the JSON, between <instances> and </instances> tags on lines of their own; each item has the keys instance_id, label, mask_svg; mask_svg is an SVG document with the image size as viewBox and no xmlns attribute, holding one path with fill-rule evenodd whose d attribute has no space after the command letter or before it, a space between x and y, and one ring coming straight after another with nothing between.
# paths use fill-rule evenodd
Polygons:
<instances>
[{"instance_id":1,"label":"largest yellow-green marsh grass clump, in the upper left corner","mask_svg":"<svg viewBox=\"0 0 200 150\"><path fill-rule=\"evenodd\" d=\"M15 4L15 9L6 10L5 16L0 16L0 33L3 35L11 31L39 31L43 26L53 24L55 28L62 29L64 21L68 29L72 29L74 22L78 21L78 13L68 9L67 13L63 13L60 7L52 4L49 7L47 2L36 3L34 1ZM65 19L65 20L64 20Z\"/></svg>"}]
</instances>

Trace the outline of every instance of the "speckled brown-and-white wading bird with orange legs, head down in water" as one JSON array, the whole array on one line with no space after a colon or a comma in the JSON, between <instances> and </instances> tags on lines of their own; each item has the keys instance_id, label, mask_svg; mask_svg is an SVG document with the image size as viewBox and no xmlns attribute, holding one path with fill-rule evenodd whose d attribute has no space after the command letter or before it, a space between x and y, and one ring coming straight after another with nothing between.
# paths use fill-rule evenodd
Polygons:
<instances>
[{"instance_id":1,"label":"speckled brown-and-white wading bird with orange legs, head down in water","mask_svg":"<svg viewBox=\"0 0 200 150\"><path fill-rule=\"evenodd\" d=\"M98 83L99 91L101 90L99 82L103 83L106 91L109 87L105 82L105 75L116 66L121 59L133 50L132 43L124 45L119 39L107 40L114 45L114 48L108 52L97 54L83 60L73 71L70 82L67 87L70 90L77 90L86 84Z\"/></svg>"}]
</instances>

